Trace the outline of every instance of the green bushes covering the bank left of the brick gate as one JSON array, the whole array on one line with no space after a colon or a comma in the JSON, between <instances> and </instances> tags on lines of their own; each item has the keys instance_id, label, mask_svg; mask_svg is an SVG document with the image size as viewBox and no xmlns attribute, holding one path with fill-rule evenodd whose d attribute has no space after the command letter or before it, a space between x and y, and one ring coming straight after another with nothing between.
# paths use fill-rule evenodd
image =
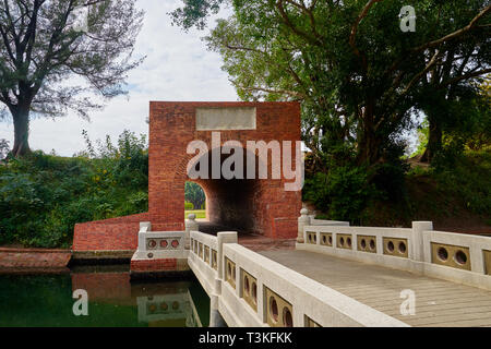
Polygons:
<instances>
[{"instance_id":1,"label":"green bushes covering the bank left of the brick gate","mask_svg":"<svg viewBox=\"0 0 491 349\"><path fill-rule=\"evenodd\" d=\"M145 137L124 131L97 151L86 142L72 158L34 152L0 165L0 243L69 246L76 222L148 209Z\"/></svg>"}]
</instances>

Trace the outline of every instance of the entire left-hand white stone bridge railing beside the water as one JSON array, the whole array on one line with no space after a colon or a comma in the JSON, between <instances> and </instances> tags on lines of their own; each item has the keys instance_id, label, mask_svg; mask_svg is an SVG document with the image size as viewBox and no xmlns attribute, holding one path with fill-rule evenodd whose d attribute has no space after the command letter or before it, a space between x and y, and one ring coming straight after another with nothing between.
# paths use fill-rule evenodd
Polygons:
<instances>
[{"instance_id":1,"label":"entire left-hand white stone bridge railing beside the water","mask_svg":"<svg viewBox=\"0 0 491 349\"><path fill-rule=\"evenodd\" d=\"M188 263L229 326L406 326L239 245L237 232L190 231L190 242Z\"/></svg>"}]
</instances>

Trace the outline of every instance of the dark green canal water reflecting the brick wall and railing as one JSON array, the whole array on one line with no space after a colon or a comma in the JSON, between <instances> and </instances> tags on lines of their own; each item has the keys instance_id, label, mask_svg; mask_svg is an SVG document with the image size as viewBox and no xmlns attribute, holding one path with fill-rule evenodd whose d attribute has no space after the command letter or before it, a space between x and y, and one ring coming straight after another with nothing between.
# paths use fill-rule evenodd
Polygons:
<instances>
[{"instance_id":1,"label":"dark green canal water reflecting the brick wall and railing","mask_svg":"<svg viewBox=\"0 0 491 349\"><path fill-rule=\"evenodd\" d=\"M86 291L87 316L73 313L75 290ZM207 327L208 322L209 298L195 278L130 282L127 265L0 275L0 327Z\"/></svg>"}]
</instances>

